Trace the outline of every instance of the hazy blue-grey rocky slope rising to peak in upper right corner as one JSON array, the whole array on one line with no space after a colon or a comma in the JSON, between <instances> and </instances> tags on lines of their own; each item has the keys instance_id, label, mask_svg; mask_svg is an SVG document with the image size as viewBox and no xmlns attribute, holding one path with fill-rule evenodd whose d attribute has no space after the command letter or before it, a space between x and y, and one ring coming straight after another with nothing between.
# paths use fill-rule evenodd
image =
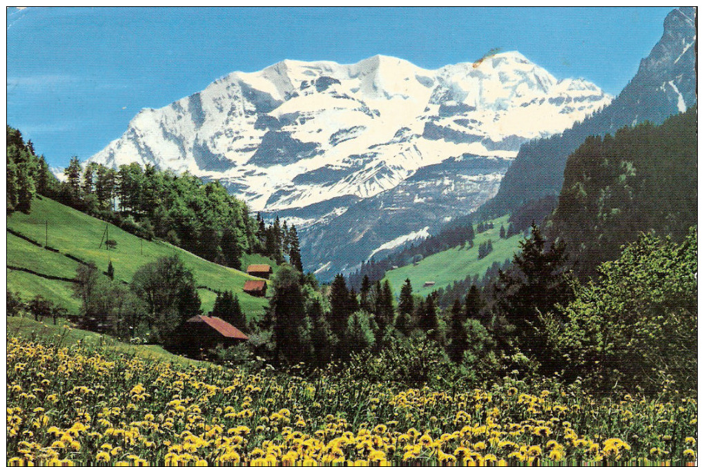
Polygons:
<instances>
[{"instance_id":1,"label":"hazy blue-grey rocky slope rising to peak in upper right corner","mask_svg":"<svg viewBox=\"0 0 704 467\"><path fill-rule=\"evenodd\" d=\"M556 195L567 155L587 136L603 136L624 125L662 123L696 103L696 11L678 8L665 18L664 32L636 76L601 112L559 136L524 144L501 181L496 197L482 207L503 214L528 200Z\"/></svg>"}]
</instances>

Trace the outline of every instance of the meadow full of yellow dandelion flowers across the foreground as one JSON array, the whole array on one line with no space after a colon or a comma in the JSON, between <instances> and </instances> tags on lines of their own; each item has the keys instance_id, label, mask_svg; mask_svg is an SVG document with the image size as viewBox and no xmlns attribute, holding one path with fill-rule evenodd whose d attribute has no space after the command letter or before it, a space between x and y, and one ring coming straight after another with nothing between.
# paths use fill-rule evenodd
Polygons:
<instances>
[{"instance_id":1,"label":"meadow full of yellow dandelion flowers across the foreground","mask_svg":"<svg viewBox=\"0 0 704 467\"><path fill-rule=\"evenodd\" d=\"M674 390L404 389L7 340L12 466L693 465L696 412Z\"/></svg>"}]
</instances>

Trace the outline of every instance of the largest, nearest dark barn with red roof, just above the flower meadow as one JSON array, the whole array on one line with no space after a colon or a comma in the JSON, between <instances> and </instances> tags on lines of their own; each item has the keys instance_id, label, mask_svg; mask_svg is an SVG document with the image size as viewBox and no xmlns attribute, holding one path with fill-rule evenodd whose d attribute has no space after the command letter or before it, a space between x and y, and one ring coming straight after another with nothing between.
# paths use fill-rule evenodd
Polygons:
<instances>
[{"instance_id":1,"label":"largest, nearest dark barn with red roof, just above the flower meadow","mask_svg":"<svg viewBox=\"0 0 704 467\"><path fill-rule=\"evenodd\" d=\"M174 344L180 352L196 357L218 344L230 347L246 340L249 338L227 321L197 314L177 328Z\"/></svg>"}]
</instances>

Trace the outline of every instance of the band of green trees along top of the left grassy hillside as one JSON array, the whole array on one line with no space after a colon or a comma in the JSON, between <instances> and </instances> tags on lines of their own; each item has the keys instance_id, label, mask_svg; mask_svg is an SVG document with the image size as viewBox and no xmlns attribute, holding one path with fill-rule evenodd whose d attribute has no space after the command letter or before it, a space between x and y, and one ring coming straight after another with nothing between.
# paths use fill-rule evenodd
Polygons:
<instances>
[{"instance_id":1,"label":"band of green trees along top of the left grassy hillside","mask_svg":"<svg viewBox=\"0 0 704 467\"><path fill-rule=\"evenodd\" d=\"M251 217L246 203L219 181L204 183L188 172L177 175L133 162L118 169L72 158L65 182L51 174L31 141L7 127L7 212L29 213L32 197L47 196L151 240L162 238L208 261L239 269L245 253L277 263L301 262L295 226L277 219L266 225Z\"/></svg>"}]
</instances>

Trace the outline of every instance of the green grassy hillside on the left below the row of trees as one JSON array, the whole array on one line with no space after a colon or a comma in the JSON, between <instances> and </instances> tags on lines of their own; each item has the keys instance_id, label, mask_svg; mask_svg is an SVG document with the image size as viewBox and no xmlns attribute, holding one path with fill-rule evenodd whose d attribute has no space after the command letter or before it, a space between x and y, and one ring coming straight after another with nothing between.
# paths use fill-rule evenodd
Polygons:
<instances>
[{"instance_id":1,"label":"green grassy hillside on the left below the row of trees","mask_svg":"<svg viewBox=\"0 0 704 467\"><path fill-rule=\"evenodd\" d=\"M118 242L114 250L99 249L101 237L106 230L103 222L48 198L37 197L32 201L32 212L25 215L15 212L7 219L8 229L44 245L46 222L49 222L49 247L59 252L45 250L37 245L8 233L8 266L22 267L50 276L73 278L79 262L65 256L73 255L82 261L94 262L102 271L113 262L115 279L131 281L134 272L143 264L167 255L179 255L194 272L200 287L212 290L233 290L239 297L244 312L253 318L263 313L267 304L265 298L254 298L242 292L244 282L256 279L237 269L220 266L203 260L185 250L162 241L145 241L142 238L122 231L113 225L108 226L111 240ZM244 264L268 262L260 255L247 255ZM8 288L27 298L36 294L55 301L58 305L77 312L78 302L71 298L71 283L44 279L23 271L8 270ZM210 312L215 302L215 293L199 288L204 312Z\"/></svg>"}]
</instances>

